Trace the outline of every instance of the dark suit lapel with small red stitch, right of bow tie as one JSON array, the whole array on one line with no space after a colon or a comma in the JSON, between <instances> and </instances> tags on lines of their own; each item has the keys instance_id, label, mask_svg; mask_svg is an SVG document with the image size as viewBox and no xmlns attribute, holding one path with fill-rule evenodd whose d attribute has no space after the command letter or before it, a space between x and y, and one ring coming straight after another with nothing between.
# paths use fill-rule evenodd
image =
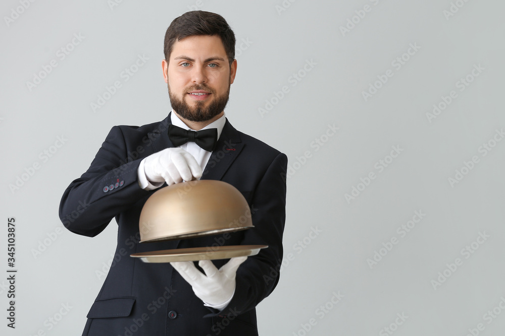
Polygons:
<instances>
[{"instance_id":1,"label":"dark suit lapel with small red stitch, right of bow tie","mask_svg":"<svg viewBox=\"0 0 505 336\"><path fill-rule=\"evenodd\" d=\"M221 136L209 158L209 162L205 166L201 179L221 180L243 147L244 144L240 139L239 132L226 119Z\"/></svg>"}]
</instances>

